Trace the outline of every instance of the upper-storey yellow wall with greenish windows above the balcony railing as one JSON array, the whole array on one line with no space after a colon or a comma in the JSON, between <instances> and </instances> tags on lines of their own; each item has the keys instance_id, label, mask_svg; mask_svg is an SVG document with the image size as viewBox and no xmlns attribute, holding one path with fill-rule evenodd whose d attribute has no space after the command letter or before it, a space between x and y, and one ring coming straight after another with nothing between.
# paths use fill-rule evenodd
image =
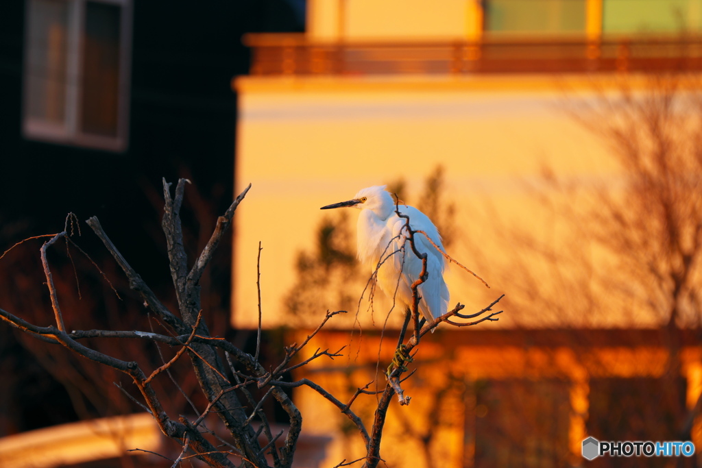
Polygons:
<instances>
[{"instance_id":1,"label":"upper-storey yellow wall with greenish windows above the balcony railing","mask_svg":"<svg viewBox=\"0 0 702 468\"><path fill-rule=\"evenodd\" d=\"M309 0L312 40L698 34L700 0Z\"/></svg>"}]
</instances>

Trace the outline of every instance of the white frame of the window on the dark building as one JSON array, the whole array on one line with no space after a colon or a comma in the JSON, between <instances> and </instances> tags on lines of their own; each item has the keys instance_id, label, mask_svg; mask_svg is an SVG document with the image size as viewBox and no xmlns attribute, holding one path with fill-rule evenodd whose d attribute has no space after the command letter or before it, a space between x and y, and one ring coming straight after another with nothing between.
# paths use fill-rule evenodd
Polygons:
<instances>
[{"instance_id":1,"label":"white frame of the window on the dark building","mask_svg":"<svg viewBox=\"0 0 702 468\"><path fill-rule=\"evenodd\" d=\"M55 0L67 4L69 11L67 26L66 69L67 83L65 95L65 121L55 123L29 115L29 47L30 11L34 0L25 4L25 53L24 53L24 90L22 105L22 134L28 140L40 140L61 145L75 145L111 152L123 152L128 146L128 112L131 81L131 36L132 36L132 0ZM117 96L117 135L105 136L84 133L80 127L80 109L83 90L83 55L86 3L110 4L120 8L120 44L119 44L119 78ZM74 81L77 86L70 86Z\"/></svg>"}]
</instances>

